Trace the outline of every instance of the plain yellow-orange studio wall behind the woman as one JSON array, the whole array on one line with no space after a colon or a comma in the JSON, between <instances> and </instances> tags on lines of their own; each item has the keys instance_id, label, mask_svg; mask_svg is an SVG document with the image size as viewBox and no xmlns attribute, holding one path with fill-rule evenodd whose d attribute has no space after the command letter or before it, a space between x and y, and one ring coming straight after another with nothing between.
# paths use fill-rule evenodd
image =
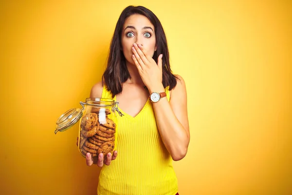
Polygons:
<instances>
[{"instance_id":1,"label":"plain yellow-orange studio wall behind the woman","mask_svg":"<svg viewBox=\"0 0 292 195\"><path fill-rule=\"evenodd\" d=\"M191 141L181 195L292 194L290 0L1 0L0 194L94 195L98 167L55 121L104 71L122 10L161 20L186 82Z\"/></svg>"}]
</instances>

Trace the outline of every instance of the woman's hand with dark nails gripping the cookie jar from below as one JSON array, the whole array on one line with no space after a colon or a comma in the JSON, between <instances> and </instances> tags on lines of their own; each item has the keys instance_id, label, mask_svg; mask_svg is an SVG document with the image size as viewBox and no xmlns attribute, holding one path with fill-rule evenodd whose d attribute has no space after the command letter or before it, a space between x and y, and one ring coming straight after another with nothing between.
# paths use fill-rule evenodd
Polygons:
<instances>
[{"instance_id":1,"label":"woman's hand with dark nails gripping the cookie jar from below","mask_svg":"<svg viewBox=\"0 0 292 195\"><path fill-rule=\"evenodd\" d=\"M77 143L76 145L78 146L78 137L77 137ZM98 159L92 159L90 153L86 153L85 158L86 158L86 164L87 166L91 166L92 164L97 164L97 166L102 167L104 164L110 165L111 160L116 159L118 155L117 151L113 151L113 155L111 156L111 153L108 153L106 157L104 157L103 153L100 153L98 155Z\"/></svg>"}]
</instances>

